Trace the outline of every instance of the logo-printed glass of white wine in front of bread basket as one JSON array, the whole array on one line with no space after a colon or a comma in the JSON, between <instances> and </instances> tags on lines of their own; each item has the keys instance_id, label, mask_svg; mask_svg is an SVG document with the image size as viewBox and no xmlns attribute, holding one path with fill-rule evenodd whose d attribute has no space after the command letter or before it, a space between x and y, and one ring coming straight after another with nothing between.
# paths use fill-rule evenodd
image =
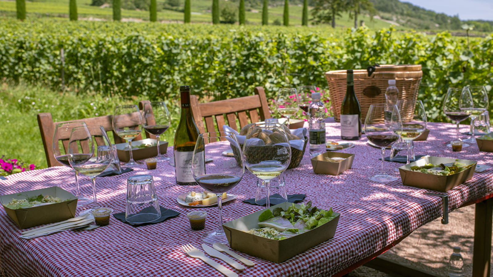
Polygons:
<instances>
[{"instance_id":1,"label":"logo-printed glass of white wine in front of bread basket","mask_svg":"<svg viewBox=\"0 0 493 277\"><path fill-rule=\"evenodd\" d=\"M279 123L253 124L243 144L246 168L262 179L266 204L270 207L270 181L280 175L291 161L291 146Z\"/></svg>"}]
</instances>

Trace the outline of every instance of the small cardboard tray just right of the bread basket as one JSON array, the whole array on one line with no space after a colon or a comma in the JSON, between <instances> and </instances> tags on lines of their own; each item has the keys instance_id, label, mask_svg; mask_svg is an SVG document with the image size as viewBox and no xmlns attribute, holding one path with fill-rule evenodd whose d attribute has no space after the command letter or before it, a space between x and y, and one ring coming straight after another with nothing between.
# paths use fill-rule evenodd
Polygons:
<instances>
[{"instance_id":1,"label":"small cardboard tray just right of the bread basket","mask_svg":"<svg viewBox=\"0 0 493 277\"><path fill-rule=\"evenodd\" d=\"M325 158L342 157L345 160L339 162L331 162ZM325 152L319 154L311 159L313 171L318 174L327 175L339 175L348 170L352 166L354 160L354 154L340 153L340 152Z\"/></svg>"}]
</instances>

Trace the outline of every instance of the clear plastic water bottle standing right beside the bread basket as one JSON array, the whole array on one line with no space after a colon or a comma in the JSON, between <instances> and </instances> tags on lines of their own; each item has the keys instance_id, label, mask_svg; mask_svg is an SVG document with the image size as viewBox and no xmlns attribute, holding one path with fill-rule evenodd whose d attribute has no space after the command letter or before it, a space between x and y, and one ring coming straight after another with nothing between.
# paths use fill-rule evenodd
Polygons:
<instances>
[{"instance_id":1,"label":"clear plastic water bottle standing right beside the bread basket","mask_svg":"<svg viewBox=\"0 0 493 277\"><path fill-rule=\"evenodd\" d=\"M312 92L312 102L308 106L310 113L309 139L310 155L325 152L325 106L320 101L320 92Z\"/></svg>"}]
</instances>

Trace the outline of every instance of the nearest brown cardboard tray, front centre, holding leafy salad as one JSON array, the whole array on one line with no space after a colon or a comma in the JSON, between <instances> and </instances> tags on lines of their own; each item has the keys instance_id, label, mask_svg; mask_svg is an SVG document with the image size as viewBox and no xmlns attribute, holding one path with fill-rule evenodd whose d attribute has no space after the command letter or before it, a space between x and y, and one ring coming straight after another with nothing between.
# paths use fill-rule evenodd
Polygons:
<instances>
[{"instance_id":1,"label":"nearest brown cardboard tray, front centre, holding leafy salad","mask_svg":"<svg viewBox=\"0 0 493 277\"><path fill-rule=\"evenodd\" d=\"M292 203L284 202L269 209L274 210L277 207L287 209L291 205ZM222 226L231 248L278 264L334 237L340 216L339 213L334 212L336 217L329 222L303 234L278 241L245 232L259 228L258 216L265 210L226 222Z\"/></svg>"}]
</instances>

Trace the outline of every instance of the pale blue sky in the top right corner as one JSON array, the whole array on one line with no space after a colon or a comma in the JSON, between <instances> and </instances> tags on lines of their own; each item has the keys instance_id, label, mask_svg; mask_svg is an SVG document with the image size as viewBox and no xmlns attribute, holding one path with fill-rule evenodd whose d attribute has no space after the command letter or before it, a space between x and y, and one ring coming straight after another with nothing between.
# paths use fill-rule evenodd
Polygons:
<instances>
[{"instance_id":1,"label":"pale blue sky in the top right corner","mask_svg":"<svg viewBox=\"0 0 493 277\"><path fill-rule=\"evenodd\" d=\"M400 0L437 13L457 15L460 20L493 21L493 0Z\"/></svg>"}]
</instances>

